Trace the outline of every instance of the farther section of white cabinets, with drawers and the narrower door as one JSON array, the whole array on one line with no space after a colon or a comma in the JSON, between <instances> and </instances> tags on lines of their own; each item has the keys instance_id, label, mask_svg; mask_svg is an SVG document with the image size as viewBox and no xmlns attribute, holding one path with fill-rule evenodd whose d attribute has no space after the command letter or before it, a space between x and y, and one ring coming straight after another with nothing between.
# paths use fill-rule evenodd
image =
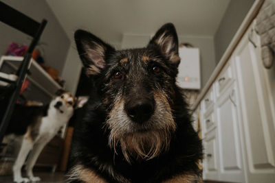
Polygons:
<instances>
[{"instance_id":1,"label":"farther section of white cabinets, with drawers and the narrower door","mask_svg":"<svg viewBox=\"0 0 275 183\"><path fill-rule=\"evenodd\" d=\"M221 78L223 78L221 80ZM240 141L239 97L230 62L210 88L213 101L210 109L201 110L203 127L203 179L225 182L245 182ZM212 96L212 97L209 97Z\"/></svg>"}]
</instances>

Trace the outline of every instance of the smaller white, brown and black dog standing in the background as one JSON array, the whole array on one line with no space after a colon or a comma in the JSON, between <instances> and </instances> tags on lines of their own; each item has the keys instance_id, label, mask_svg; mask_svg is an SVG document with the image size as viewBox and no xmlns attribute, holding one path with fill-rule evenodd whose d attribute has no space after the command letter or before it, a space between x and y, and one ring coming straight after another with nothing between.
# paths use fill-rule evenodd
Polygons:
<instances>
[{"instance_id":1,"label":"smaller white, brown and black dog standing in the background","mask_svg":"<svg viewBox=\"0 0 275 183\"><path fill-rule=\"evenodd\" d=\"M87 97L73 97L70 93L60 93L46 106L17 105L6 134L23 135L21 149L13 166L14 182L37 182L41 179L34 177L32 168L43 147L57 134L74 113L81 108ZM28 156L30 152L30 155ZM28 178L22 178L21 168L26 162Z\"/></svg>"}]
</instances>

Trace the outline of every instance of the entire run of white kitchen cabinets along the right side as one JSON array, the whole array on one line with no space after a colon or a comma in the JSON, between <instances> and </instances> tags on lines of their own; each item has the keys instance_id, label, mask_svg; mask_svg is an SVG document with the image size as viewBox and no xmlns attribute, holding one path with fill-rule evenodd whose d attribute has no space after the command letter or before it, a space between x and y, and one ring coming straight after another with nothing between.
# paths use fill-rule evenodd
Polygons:
<instances>
[{"instance_id":1,"label":"entire run of white kitchen cabinets along the right side","mask_svg":"<svg viewBox=\"0 0 275 183\"><path fill-rule=\"evenodd\" d=\"M203 180L275 182L275 65L264 68L251 32L200 99Z\"/></svg>"}]
</instances>

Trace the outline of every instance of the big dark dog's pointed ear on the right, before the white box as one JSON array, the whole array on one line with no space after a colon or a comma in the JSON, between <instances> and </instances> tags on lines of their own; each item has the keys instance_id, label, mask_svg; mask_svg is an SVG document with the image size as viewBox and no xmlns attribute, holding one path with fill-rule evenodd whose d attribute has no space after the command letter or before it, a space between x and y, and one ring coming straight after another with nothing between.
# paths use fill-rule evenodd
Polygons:
<instances>
[{"instance_id":1,"label":"big dark dog's pointed ear on the right, before the white box","mask_svg":"<svg viewBox=\"0 0 275 183\"><path fill-rule=\"evenodd\" d=\"M157 31L147 47L159 47L162 54L176 66L179 65L179 42L173 23L166 23Z\"/></svg>"}]
</instances>

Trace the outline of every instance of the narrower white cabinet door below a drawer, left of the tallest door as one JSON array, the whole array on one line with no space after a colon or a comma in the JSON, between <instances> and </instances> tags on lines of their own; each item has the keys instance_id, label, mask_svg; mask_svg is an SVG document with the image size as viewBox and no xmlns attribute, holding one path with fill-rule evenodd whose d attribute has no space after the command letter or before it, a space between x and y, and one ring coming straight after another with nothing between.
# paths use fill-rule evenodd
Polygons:
<instances>
[{"instance_id":1,"label":"narrower white cabinet door below a drawer, left of the tallest door","mask_svg":"<svg viewBox=\"0 0 275 183\"><path fill-rule=\"evenodd\" d=\"M217 131L219 136L219 180L245 182L236 84L232 83L217 98Z\"/></svg>"}]
</instances>

